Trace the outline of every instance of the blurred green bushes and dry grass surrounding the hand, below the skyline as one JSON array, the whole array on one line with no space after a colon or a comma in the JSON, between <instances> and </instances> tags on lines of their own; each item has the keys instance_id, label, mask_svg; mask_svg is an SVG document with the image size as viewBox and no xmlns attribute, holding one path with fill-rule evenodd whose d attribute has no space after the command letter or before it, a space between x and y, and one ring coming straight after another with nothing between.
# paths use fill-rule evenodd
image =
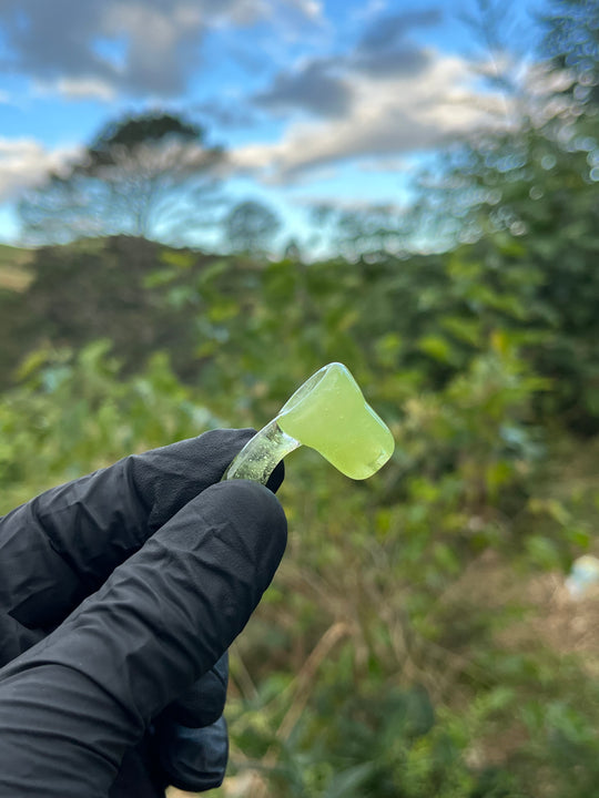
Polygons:
<instances>
[{"instance_id":1,"label":"blurred green bushes and dry grass surrounding the hand, below the skyline","mask_svg":"<svg viewBox=\"0 0 599 798\"><path fill-rule=\"evenodd\" d=\"M550 439L535 415L551 386L516 314L501 326L493 297L487 316L447 309L479 276L459 252L196 268L165 250L141 290L165 294L191 326L199 387L160 354L123 371L101 342L32 354L0 401L9 510L131 451L257 426L326 360L356 372L397 453L365 484L309 451L290 459L290 550L233 656L233 771L255 770L283 798L537 798L551 785L579 798L567 756L580 790L595 778L596 683L537 643L506 644L530 610L514 584L494 584L512 573L525 590L567 567L589 545L592 488L564 470L568 434ZM445 346L423 346L434 337Z\"/></svg>"}]
</instances>

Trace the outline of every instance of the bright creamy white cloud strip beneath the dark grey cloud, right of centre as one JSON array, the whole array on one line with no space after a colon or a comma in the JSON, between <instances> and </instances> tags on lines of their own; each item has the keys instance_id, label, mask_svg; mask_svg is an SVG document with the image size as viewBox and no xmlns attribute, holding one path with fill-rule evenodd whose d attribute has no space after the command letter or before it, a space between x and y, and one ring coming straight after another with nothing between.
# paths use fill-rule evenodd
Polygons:
<instances>
[{"instance_id":1,"label":"bright creamy white cloud strip beneath the dark grey cloud, right of centre","mask_svg":"<svg viewBox=\"0 0 599 798\"><path fill-rule=\"evenodd\" d=\"M264 182L283 183L343 160L426 150L447 135L488 123L489 110L504 101L471 89L473 73L464 59L430 55L416 75L382 80L355 74L355 98L346 115L295 122L280 142L240 147L232 162Z\"/></svg>"}]
</instances>

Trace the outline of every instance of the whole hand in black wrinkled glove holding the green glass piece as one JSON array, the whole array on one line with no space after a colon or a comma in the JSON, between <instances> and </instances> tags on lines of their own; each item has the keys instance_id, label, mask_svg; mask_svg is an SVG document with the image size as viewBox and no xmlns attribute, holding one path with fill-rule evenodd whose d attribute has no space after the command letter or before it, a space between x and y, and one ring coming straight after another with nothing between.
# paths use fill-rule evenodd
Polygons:
<instances>
[{"instance_id":1,"label":"whole hand in black wrinkled glove holding the green glass piece","mask_svg":"<svg viewBox=\"0 0 599 798\"><path fill-rule=\"evenodd\" d=\"M154 798L224 776L226 651L286 521L220 482L253 430L215 430L0 519L0 798Z\"/></svg>"}]
</instances>

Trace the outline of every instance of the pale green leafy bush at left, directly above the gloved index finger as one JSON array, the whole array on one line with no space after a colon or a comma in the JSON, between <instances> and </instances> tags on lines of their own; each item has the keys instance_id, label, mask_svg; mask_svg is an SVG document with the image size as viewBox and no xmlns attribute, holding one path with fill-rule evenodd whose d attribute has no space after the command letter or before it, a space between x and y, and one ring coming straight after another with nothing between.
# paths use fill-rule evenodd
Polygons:
<instances>
[{"instance_id":1,"label":"pale green leafy bush at left, directly above the gloved index finger","mask_svg":"<svg viewBox=\"0 0 599 798\"><path fill-rule=\"evenodd\" d=\"M163 354L123 379L109 350L99 340L78 354L39 350L23 362L21 385L0 399L1 512L134 451L219 426Z\"/></svg>"}]
</instances>

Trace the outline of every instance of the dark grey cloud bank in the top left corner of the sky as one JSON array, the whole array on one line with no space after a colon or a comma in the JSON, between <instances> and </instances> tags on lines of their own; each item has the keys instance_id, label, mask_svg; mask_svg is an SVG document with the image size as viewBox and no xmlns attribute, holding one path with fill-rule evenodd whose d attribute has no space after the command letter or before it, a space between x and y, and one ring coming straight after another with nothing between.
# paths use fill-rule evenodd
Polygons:
<instances>
[{"instance_id":1,"label":"dark grey cloud bank in the top left corner of the sky","mask_svg":"<svg viewBox=\"0 0 599 798\"><path fill-rule=\"evenodd\" d=\"M202 62L214 25L252 25L282 11L319 20L316 0L0 0L0 69L91 96L173 98ZM61 83L62 82L62 83Z\"/></svg>"}]
</instances>

